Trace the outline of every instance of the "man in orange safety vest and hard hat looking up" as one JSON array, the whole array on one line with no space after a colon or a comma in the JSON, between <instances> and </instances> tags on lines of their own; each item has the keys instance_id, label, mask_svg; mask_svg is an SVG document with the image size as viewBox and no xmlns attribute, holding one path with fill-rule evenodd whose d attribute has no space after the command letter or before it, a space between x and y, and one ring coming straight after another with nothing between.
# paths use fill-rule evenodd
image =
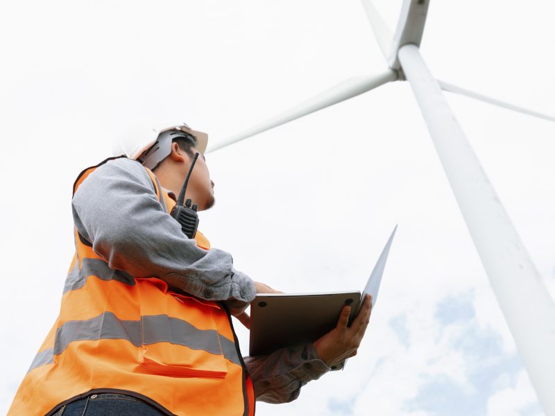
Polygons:
<instances>
[{"instance_id":1,"label":"man in orange safety vest and hard hat looking up","mask_svg":"<svg viewBox=\"0 0 555 416\"><path fill-rule=\"evenodd\" d=\"M314 344L241 357L230 315L248 326L255 294L274 291L169 214L195 153L186 198L214 204L207 135L185 124L145 132L74 184L60 315L8 415L253 415L255 400L294 400L357 352L369 298L350 327L345 306Z\"/></svg>"}]
</instances>

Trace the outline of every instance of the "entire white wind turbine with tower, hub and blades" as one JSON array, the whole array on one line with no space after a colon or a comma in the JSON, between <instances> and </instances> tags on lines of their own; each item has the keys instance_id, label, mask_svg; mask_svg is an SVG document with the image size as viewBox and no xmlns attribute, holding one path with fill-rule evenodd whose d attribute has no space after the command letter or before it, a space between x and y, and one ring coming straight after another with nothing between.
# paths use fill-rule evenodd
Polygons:
<instances>
[{"instance_id":1,"label":"entire white wind turbine with tower, hub and blades","mask_svg":"<svg viewBox=\"0 0 555 416\"><path fill-rule=\"evenodd\" d=\"M436 80L419 51L429 0L404 0L394 35L370 0L362 3L386 58L386 71L346 80L215 144L208 151L237 143L391 81L407 80L540 404L547 415L555 415L555 303L441 90L550 121L555 121L555 117Z\"/></svg>"}]
</instances>

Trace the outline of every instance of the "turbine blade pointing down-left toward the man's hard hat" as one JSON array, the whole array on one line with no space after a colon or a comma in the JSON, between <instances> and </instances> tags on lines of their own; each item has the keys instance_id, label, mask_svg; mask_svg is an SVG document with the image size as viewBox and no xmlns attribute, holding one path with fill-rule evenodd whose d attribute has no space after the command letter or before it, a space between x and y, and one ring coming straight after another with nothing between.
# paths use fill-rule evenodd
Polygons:
<instances>
[{"instance_id":1,"label":"turbine blade pointing down-left toward the man's hard hat","mask_svg":"<svg viewBox=\"0 0 555 416\"><path fill-rule=\"evenodd\" d=\"M363 94L364 92L370 91L370 89L377 88L380 85L384 85L385 83L397 79L397 71L392 71L391 69L388 69L384 73L380 73L377 76L357 76L355 78L350 78L343 81L343 83L327 89L325 92L309 98L309 100L300 103L299 105L296 105L281 114L278 114L278 116L274 116L271 119L248 128L237 135L220 141L219 143L214 144L214 146L210 146L208 152L213 152L214 150L237 143L237 141L247 139L248 137L265 132L266 130L270 130L278 125L288 123L289 121L296 120L302 116L306 116L307 114L322 110L325 107L330 107L330 105L348 100L349 98Z\"/></svg>"}]
</instances>

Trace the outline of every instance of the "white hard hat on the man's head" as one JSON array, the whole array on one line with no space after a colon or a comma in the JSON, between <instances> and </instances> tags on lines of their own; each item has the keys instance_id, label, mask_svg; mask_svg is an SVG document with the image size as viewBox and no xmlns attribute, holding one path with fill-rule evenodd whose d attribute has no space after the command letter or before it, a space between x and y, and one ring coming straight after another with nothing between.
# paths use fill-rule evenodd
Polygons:
<instances>
[{"instance_id":1,"label":"white hard hat on the man's head","mask_svg":"<svg viewBox=\"0 0 555 416\"><path fill-rule=\"evenodd\" d=\"M171 153L172 139L181 135L193 136L196 150L199 153L205 153L208 135L192 130L185 123L160 130L136 128L134 132L127 132L125 136L114 142L113 153L114 156L126 155L130 159L139 160L147 168L153 169Z\"/></svg>"}]
</instances>

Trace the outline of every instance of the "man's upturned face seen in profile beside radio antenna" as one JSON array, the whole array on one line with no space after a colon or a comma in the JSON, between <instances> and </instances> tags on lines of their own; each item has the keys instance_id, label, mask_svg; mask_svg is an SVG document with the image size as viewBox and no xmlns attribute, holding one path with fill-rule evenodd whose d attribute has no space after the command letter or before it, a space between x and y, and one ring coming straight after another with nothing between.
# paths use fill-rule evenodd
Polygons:
<instances>
[{"instance_id":1,"label":"man's upturned face seen in profile beside radio antenna","mask_svg":"<svg viewBox=\"0 0 555 416\"><path fill-rule=\"evenodd\" d=\"M193 154L198 152L195 148L191 150ZM193 158L189 155L185 154L185 156L186 160L180 172L182 181L185 181L185 177L193 161ZM208 171L205 156L202 154L198 155L191 177L189 177L185 200L187 200L187 198L191 198L194 204L198 204L199 211L209 209L214 205L214 182L210 179L210 171Z\"/></svg>"}]
</instances>

